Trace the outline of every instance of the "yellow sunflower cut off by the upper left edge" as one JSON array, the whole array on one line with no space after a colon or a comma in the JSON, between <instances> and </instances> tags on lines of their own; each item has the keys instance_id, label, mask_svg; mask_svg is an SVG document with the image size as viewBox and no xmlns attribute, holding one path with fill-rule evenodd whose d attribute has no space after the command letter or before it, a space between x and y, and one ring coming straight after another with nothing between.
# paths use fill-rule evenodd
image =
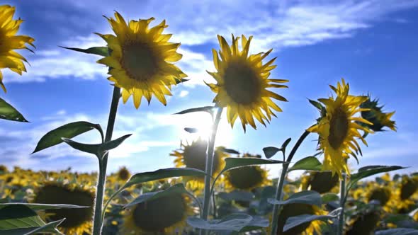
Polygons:
<instances>
[{"instance_id":1,"label":"yellow sunflower cut off by the upper left edge","mask_svg":"<svg viewBox=\"0 0 418 235\"><path fill-rule=\"evenodd\" d=\"M35 47L32 42L35 41L26 35L16 35L23 20L13 20L15 13L14 6L0 6L0 69L9 68L17 74L22 75L22 71L26 71L25 64L28 62L25 57L15 52L16 49L27 49L26 43ZM32 50L30 50L33 52ZM0 70L0 86L6 92L3 84L3 74Z\"/></svg>"}]
</instances>

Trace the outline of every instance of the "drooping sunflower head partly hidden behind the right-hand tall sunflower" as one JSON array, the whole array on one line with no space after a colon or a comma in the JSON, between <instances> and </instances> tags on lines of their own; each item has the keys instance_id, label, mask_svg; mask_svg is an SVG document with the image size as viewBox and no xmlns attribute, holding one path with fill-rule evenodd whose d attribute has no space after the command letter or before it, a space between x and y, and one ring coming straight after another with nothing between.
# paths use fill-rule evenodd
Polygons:
<instances>
[{"instance_id":1,"label":"drooping sunflower head partly hidden behind the right-hand tall sunflower","mask_svg":"<svg viewBox=\"0 0 418 235\"><path fill-rule=\"evenodd\" d=\"M396 131L395 121L390 120L390 117L392 117L395 112L383 113L383 105L379 106L378 99L372 100L371 97L368 96L368 99L361 103L360 108L368 109L361 111L361 117L372 124L370 125L363 122L358 122L358 124L364 125L375 132L382 132L383 127L388 127L390 130Z\"/></svg>"}]
</instances>

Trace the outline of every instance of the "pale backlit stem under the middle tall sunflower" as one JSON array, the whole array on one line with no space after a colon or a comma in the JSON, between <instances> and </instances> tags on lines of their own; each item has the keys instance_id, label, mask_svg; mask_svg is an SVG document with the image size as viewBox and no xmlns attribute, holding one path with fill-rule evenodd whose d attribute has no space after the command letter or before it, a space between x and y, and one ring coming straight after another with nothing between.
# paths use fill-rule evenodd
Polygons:
<instances>
[{"instance_id":1,"label":"pale backlit stem under the middle tall sunflower","mask_svg":"<svg viewBox=\"0 0 418 235\"><path fill-rule=\"evenodd\" d=\"M218 112L216 113L215 122L213 122L211 136L208 144L208 155L206 156L206 168L205 168L205 190L203 198L203 212L202 219L207 220L210 207L210 179L212 178L212 168L213 168L213 149L215 148L215 138L216 132L218 132L218 125L220 122L220 116L222 115L223 108L218 107ZM200 230L200 235L205 234L205 232Z\"/></svg>"}]
</instances>

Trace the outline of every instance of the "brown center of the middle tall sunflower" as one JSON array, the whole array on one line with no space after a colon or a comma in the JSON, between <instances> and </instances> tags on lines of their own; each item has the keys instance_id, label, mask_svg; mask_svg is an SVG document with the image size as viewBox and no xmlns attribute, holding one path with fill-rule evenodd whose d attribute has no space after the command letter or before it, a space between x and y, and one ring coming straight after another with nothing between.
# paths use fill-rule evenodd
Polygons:
<instances>
[{"instance_id":1,"label":"brown center of the middle tall sunflower","mask_svg":"<svg viewBox=\"0 0 418 235\"><path fill-rule=\"evenodd\" d=\"M259 100L261 96L259 74L247 61L229 62L225 69L224 80L225 91L236 103L249 105Z\"/></svg>"}]
</instances>

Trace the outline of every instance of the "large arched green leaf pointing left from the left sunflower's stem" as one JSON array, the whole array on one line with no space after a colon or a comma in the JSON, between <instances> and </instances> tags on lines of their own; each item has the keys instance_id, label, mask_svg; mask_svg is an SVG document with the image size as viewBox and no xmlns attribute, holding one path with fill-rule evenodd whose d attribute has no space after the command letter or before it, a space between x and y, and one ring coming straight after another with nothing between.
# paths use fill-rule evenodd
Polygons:
<instances>
[{"instance_id":1,"label":"large arched green leaf pointing left from the left sunflower's stem","mask_svg":"<svg viewBox=\"0 0 418 235\"><path fill-rule=\"evenodd\" d=\"M90 130L96 129L101 133L103 139L103 130L101 130L101 126L98 124L93 124L90 122L71 122L61 127L58 127L55 130L47 132L40 141L36 145L35 150L32 154L37 151L47 149L57 144L61 144L63 142L62 138L69 138L76 137L79 134L83 134L84 132L88 132Z\"/></svg>"}]
</instances>

